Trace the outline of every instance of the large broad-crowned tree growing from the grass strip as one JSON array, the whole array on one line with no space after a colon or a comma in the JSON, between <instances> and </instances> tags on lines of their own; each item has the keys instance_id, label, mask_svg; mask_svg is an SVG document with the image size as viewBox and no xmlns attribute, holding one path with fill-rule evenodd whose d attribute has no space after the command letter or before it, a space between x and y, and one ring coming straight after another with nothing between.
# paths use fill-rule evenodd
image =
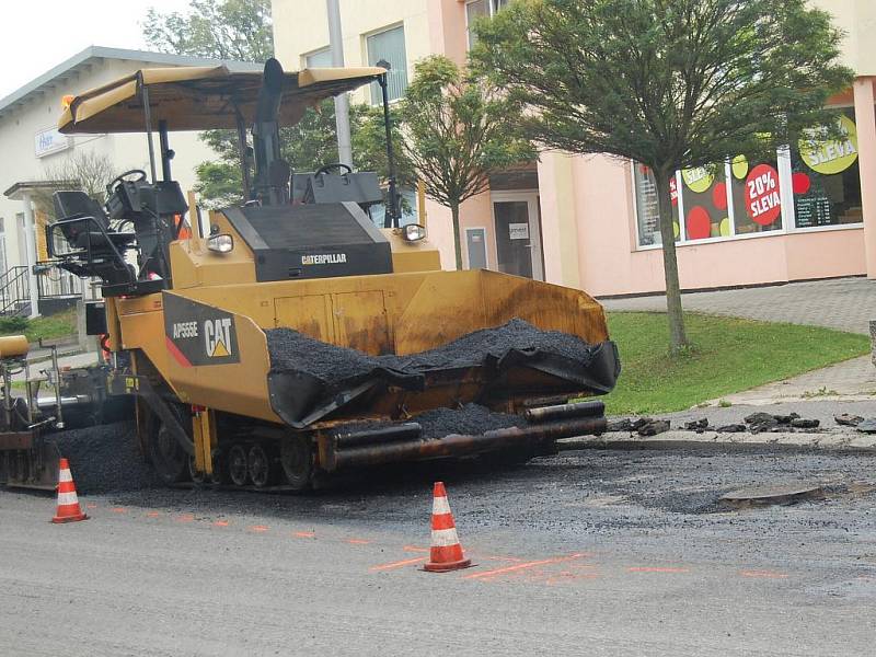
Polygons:
<instances>
[{"instance_id":1,"label":"large broad-crowned tree growing from the grass strip","mask_svg":"<svg viewBox=\"0 0 876 657\"><path fill-rule=\"evenodd\" d=\"M677 354L688 338L670 177L835 124L825 104L852 71L837 64L829 14L806 0L517 0L475 30L473 58L523 103L527 135L653 170Z\"/></svg>"}]
</instances>

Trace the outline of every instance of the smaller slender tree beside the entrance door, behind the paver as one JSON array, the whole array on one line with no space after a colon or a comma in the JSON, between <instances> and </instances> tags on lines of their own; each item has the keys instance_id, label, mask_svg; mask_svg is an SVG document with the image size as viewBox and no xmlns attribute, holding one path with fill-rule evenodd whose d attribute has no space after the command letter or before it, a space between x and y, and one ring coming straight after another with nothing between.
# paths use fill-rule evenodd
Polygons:
<instances>
[{"instance_id":1,"label":"smaller slender tree beside the entrance door, behind the paver","mask_svg":"<svg viewBox=\"0 0 876 657\"><path fill-rule=\"evenodd\" d=\"M404 153L426 195L450 208L457 269L462 269L460 206L485 192L489 175L535 158L515 118L520 106L452 60L422 59L402 105Z\"/></svg>"}]
</instances>

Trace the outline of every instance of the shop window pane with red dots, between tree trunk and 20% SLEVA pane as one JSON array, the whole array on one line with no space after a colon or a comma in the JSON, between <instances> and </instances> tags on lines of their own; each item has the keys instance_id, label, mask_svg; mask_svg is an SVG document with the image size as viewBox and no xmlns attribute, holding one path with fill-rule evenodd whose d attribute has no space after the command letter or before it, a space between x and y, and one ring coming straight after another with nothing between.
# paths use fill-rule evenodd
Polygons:
<instances>
[{"instance_id":1,"label":"shop window pane with red dots, between tree trunk and 20% SLEVA pane","mask_svg":"<svg viewBox=\"0 0 876 657\"><path fill-rule=\"evenodd\" d=\"M681 172L684 237L706 240L731 234L724 164Z\"/></svg>"}]
</instances>

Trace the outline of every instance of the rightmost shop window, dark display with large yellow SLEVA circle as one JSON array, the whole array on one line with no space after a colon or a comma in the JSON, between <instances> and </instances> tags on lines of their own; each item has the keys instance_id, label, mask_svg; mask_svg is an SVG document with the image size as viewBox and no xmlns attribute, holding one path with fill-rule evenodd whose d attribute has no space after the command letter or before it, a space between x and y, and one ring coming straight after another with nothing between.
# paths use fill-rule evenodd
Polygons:
<instances>
[{"instance_id":1,"label":"rightmost shop window, dark display with large yellow SLEVA circle","mask_svg":"<svg viewBox=\"0 0 876 657\"><path fill-rule=\"evenodd\" d=\"M861 172L853 108L840 118L844 139L802 141L791 149L794 226L816 228L861 223Z\"/></svg>"}]
</instances>

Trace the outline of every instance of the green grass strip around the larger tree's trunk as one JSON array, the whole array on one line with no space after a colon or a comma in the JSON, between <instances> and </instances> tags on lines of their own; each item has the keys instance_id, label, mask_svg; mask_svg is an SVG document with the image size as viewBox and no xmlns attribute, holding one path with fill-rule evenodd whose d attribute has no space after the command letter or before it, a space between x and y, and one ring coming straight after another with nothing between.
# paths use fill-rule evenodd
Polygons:
<instances>
[{"instance_id":1,"label":"green grass strip around the larger tree's trunk","mask_svg":"<svg viewBox=\"0 0 876 657\"><path fill-rule=\"evenodd\" d=\"M609 313L621 353L621 377L606 401L613 415L682 411L869 351L865 335L817 326L685 314L695 347L667 355L666 314Z\"/></svg>"}]
</instances>

